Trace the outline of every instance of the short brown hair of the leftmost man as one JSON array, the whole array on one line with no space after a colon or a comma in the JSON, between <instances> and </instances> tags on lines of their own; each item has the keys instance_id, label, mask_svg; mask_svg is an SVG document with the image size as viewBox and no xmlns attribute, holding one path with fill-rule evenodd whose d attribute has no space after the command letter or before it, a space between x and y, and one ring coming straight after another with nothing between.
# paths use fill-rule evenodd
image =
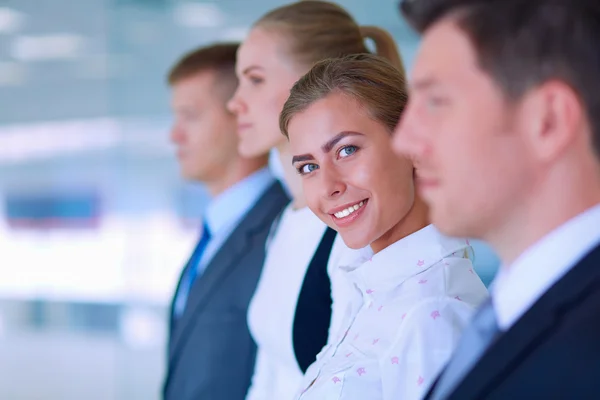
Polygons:
<instances>
[{"instance_id":1,"label":"short brown hair of the leftmost man","mask_svg":"<svg viewBox=\"0 0 600 400\"><path fill-rule=\"evenodd\" d=\"M214 71L219 88L231 97L237 86L235 62L239 43L214 43L185 54L169 71L167 81L174 85L200 72Z\"/></svg>"}]
</instances>

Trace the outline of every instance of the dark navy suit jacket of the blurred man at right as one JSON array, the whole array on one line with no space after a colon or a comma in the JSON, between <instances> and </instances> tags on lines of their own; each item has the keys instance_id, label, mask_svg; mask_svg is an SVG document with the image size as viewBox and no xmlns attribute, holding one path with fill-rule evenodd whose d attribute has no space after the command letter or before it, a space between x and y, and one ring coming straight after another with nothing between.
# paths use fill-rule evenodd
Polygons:
<instances>
[{"instance_id":1,"label":"dark navy suit jacket of the blurred man at right","mask_svg":"<svg viewBox=\"0 0 600 400\"><path fill-rule=\"evenodd\" d=\"M446 399L600 399L600 246L502 334Z\"/></svg>"}]
</instances>

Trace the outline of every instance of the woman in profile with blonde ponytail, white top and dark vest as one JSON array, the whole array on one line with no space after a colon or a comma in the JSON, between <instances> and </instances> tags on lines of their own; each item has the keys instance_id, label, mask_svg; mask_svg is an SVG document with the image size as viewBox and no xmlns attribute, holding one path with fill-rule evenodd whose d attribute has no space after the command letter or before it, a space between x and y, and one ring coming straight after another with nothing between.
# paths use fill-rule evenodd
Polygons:
<instances>
[{"instance_id":1,"label":"woman in profile with blonde ponytail, white top and dark vest","mask_svg":"<svg viewBox=\"0 0 600 400\"><path fill-rule=\"evenodd\" d=\"M332 251L336 232L306 207L300 176L279 130L279 113L294 82L315 62L364 53L367 38L379 54L402 68L387 32L360 27L340 6L321 1L292 3L267 13L238 52L240 83L229 103L238 118L238 150L252 157L277 149L292 194L274 227L249 308L248 323L258 345L249 400L292 399L304 371L326 344L330 327L337 331L339 326L337 305L345 304L344 287L332 268L338 248L345 246L337 241Z\"/></svg>"}]
</instances>

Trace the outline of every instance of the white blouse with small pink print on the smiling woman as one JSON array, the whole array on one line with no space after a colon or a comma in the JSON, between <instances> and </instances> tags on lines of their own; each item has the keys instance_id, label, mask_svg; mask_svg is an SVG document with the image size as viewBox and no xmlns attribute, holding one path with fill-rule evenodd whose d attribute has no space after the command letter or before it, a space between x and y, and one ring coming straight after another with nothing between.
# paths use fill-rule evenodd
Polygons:
<instances>
[{"instance_id":1,"label":"white blouse with small pink print on the smiling woman","mask_svg":"<svg viewBox=\"0 0 600 400\"><path fill-rule=\"evenodd\" d=\"M340 268L355 296L297 398L421 399L488 296L469 249L430 225L375 255L346 251Z\"/></svg>"}]
</instances>

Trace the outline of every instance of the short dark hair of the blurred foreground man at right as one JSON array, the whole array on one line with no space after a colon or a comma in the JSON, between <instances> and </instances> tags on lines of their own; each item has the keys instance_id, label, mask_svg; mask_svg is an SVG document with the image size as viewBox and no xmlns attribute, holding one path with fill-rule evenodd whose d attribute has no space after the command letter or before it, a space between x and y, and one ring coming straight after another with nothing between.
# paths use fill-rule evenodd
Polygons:
<instances>
[{"instance_id":1,"label":"short dark hair of the blurred foreground man at right","mask_svg":"<svg viewBox=\"0 0 600 400\"><path fill-rule=\"evenodd\" d=\"M600 0L402 0L419 33L451 18L509 100L550 80L578 94L600 157Z\"/></svg>"}]
</instances>

